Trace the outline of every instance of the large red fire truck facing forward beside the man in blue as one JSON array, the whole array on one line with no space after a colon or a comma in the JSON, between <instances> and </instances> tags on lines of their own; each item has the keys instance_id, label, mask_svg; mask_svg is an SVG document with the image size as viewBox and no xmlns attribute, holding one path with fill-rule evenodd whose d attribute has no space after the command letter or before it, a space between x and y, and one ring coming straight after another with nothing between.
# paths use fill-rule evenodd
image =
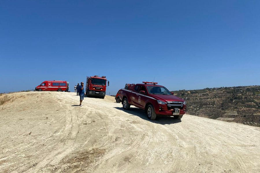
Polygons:
<instances>
[{"instance_id":1,"label":"large red fire truck facing forward beside the man in blue","mask_svg":"<svg viewBox=\"0 0 260 173\"><path fill-rule=\"evenodd\" d=\"M86 95L105 98L107 86L109 86L109 81L107 81L106 76L87 76Z\"/></svg>"}]
</instances>

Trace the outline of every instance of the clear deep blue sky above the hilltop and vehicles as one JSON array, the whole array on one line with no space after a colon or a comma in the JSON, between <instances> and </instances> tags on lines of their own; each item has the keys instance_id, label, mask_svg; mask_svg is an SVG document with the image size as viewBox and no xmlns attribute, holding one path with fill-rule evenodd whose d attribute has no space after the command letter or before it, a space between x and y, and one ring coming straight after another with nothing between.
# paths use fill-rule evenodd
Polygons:
<instances>
[{"instance_id":1,"label":"clear deep blue sky above the hilltop and vehicles","mask_svg":"<svg viewBox=\"0 0 260 173\"><path fill-rule=\"evenodd\" d=\"M260 1L1 1L0 93L104 75L169 90L260 85ZM70 88L72 91L72 87Z\"/></svg>"}]
</instances>

